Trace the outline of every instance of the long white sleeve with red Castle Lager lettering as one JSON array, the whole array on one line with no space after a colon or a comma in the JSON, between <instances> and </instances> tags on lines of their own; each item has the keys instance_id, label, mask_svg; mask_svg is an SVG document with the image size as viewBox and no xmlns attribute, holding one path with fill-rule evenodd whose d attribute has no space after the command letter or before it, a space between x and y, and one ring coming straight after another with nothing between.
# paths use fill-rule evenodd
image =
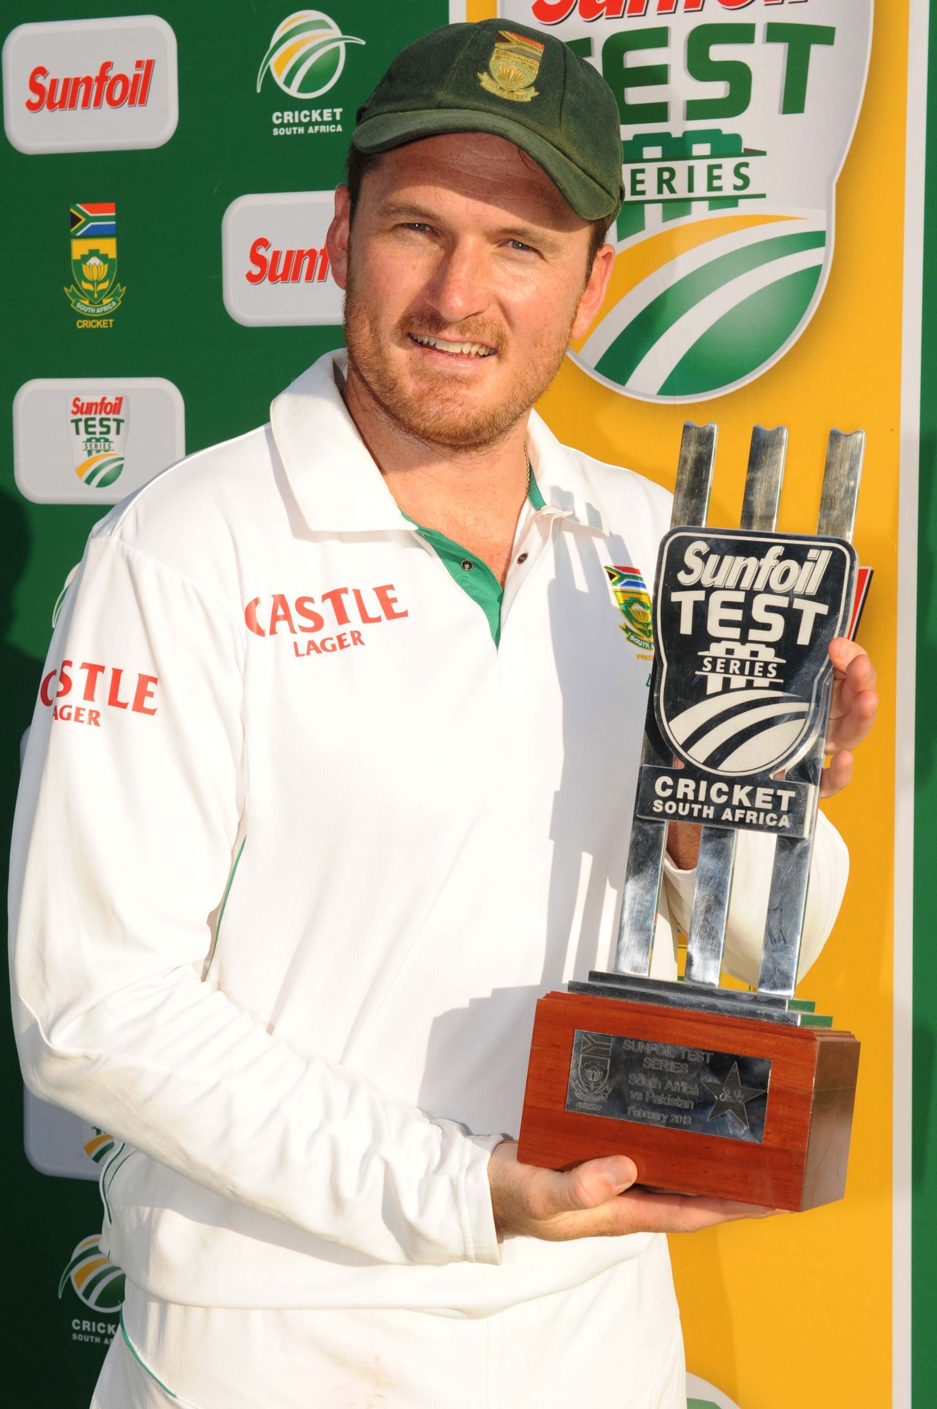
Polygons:
<instances>
[{"instance_id":1,"label":"long white sleeve with red Castle Lager lettering","mask_svg":"<svg viewBox=\"0 0 937 1409\"><path fill-rule=\"evenodd\" d=\"M14 827L25 1081L207 1189L367 1258L498 1262L487 1161L499 1137L384 1096L203 981L243 810L243 623L222 604L114 534L91 538Z\"/></svg>"}]
</instances>

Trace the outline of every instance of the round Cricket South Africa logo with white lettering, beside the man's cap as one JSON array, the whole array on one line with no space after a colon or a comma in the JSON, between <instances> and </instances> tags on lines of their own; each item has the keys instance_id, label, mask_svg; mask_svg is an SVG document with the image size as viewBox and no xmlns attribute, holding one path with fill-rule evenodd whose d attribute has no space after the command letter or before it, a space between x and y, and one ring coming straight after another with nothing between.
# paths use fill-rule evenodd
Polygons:
<instances>
[{"instance_id":1,"label":"round Cricket South Africa logo with white lettering, beside the man's cap","mask_svg":"<svg viewBox=\"0 0 937 1409\"><path fill-rule=\"evenodd\" d=\"M348 44L364 44L342 34L322 10L295 10L273 31L257 72L257 93L267 73L287 99L294 100L272 114L274 137L340 132L343 107L310 106L324 97L342 76Z\"/></svg>"}]
</instances>

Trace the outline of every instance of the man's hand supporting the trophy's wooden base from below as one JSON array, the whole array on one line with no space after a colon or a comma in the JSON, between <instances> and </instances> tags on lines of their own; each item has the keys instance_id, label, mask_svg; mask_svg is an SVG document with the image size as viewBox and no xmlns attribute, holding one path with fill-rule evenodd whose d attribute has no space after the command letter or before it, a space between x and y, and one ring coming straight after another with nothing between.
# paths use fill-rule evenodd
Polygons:
<instances>
[{"instance_id":1,"label":"man's hand supporting the trophy's wooden base from below","mask_svg":"<svg viewBox=\"0 0 937 1409\"><path fill-rule=\"evenodd\" d=\"M734 1219L764 1219L777 1212L729 1199L632 1189L637 1169L626 1155L589 1160L568 1174L518 1164L518 1146L505 1140L488 1162L498 1237L566 1243L577 1237L625 1233L696 1233Z\"/></svg>"}]
</instances>

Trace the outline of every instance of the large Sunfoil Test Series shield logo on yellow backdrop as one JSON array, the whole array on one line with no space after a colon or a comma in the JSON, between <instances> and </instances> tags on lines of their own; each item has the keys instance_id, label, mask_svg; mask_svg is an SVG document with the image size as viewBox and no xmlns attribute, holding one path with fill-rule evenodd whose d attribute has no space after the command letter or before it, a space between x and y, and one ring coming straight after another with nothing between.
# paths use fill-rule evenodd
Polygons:
<instances>
[{"instance_id":1,"label":"large Sunfoil Test Series shield logo on yellow backdrop","mask_svg":"<svg viewBox=\"0 0 937 1409\"><path fill-rule=\"evenodd\" d=\"M591 376L694 402L768 371L813 316L836 180L865 87L874 0L501 0L602 73L625 206Z\"/></svg>"}]
</instances>

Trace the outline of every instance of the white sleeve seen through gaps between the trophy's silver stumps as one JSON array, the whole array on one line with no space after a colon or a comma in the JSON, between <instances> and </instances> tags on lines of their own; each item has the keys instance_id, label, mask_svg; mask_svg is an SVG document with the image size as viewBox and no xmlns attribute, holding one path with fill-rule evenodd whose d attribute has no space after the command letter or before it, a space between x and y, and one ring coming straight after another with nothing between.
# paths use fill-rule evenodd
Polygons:
<instances>
[{"instance_id":1,"label":"white sleeve seen through gaps between the trophy's silver stumps","mask_svg":"<svg viewBox=\"0 0 937 1409\"><path fill-rule=\"evenodd\" d=\"M736 868L726 924L723 967L744 983L758 982L764 926L768 917L768 893L774 865L775 837L740 831L736 841ZM817 813L810 883L803 917L803 940L798 964L798 982L816 961L830 937L846 893L850 854L839 831L823 813ZM671 913L681 930L689 930L696 872L680 871L664 858L664 883Z\"/></svg>"}]
</instances>

